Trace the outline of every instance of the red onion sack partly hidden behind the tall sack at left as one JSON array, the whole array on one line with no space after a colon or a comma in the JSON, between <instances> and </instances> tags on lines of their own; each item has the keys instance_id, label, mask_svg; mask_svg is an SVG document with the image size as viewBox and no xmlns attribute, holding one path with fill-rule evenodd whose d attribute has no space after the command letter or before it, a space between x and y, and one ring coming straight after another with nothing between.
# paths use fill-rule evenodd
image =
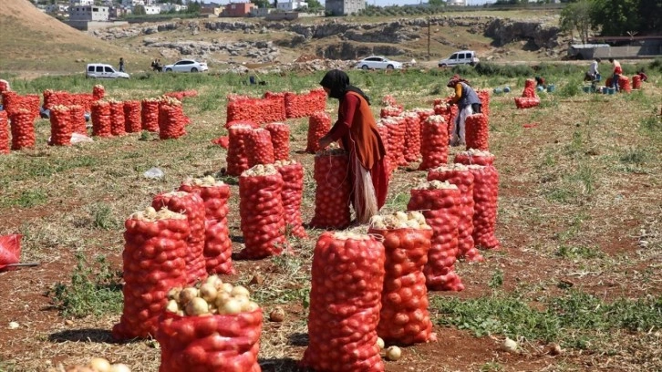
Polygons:
<instances>
[{"instance_id":1,"label":"red onion sack partly hidden behind the tall sack at left","mask_svg":"<svg viewBox=\"0 0 662 372\"><path fill-rule=\"evenodd\" d=\"M151 206L160 211L168 209L180 212L189 222L190 234L186 238L186 280L193 284L207 277L204 263L204 202L195 192L174 191L154 197Z\"/></svg>"}]
</instances>

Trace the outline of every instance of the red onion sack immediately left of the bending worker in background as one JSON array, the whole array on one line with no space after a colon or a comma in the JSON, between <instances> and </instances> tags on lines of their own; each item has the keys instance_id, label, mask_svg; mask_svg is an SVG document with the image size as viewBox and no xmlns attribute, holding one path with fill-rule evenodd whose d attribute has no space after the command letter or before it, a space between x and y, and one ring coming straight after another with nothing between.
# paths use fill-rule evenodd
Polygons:
<instances>
[{"instance_id":1,"label":"red onion sack immediately left of the bending worker in background","mask_svg":"<svg viewBox=\"0 0 662 372\"><path fill-rule=\"evenodd\" d=\"M449 157L449 132L446 120L440 115L433 115L422 124L423 141L420 143L420 155L423 161L419 171L445 164Z\"/></svg>"}]
</instances>

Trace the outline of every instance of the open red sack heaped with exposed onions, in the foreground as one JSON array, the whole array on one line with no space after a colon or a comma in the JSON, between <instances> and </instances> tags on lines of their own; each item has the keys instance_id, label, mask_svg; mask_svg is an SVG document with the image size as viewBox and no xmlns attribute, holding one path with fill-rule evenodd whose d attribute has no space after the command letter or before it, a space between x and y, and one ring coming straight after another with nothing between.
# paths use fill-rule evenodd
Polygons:
<instances>
[{"instance_id":1,"label":"open red sack heaped with exposed onions, in the foreground","mask_svg":"<svg viewBox=\"0 0 662 372\"><path fill-rule=\"evenodd\" d=\"M241 285L212 275L172 288L160 317L159 372L259 372L262 309Z\"/></svg>"}]
</instances>

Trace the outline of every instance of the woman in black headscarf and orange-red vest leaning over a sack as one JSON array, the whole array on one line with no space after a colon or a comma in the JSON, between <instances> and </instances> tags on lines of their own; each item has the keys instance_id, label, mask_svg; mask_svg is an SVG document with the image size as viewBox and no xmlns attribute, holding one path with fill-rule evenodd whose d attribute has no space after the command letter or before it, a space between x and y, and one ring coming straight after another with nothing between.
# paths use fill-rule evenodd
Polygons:
<instances>
[{"instance_id":1,"label":"woman in black headscarf and orange-red vest leaning over a sack","mask_svg":"<svg viewBox=\"0 0 662 372\"><path fill-rule=\"evenodd\" d=\"M357 222L367 223L386 202L388 191L386 149L370 111L370 99L361 89L351 86L347 74L337 69L327 72L319 84L330 98L340 101L338 119L319 140L319 146L325 149L340 141L349 152L350 202Z\"/></svg>"}]
</instances>

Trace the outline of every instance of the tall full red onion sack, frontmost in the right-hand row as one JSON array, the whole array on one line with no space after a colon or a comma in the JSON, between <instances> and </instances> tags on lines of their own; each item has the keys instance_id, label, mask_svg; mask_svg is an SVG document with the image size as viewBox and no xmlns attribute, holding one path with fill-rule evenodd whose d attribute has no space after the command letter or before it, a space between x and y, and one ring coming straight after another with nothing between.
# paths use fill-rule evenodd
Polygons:
<instances>
[{"instance_id":1,"label":"tall full red onion sack, frontmost in the right-hand row","mask_svg":"<svg viewBox=\"0 0 662 372\"><path fill-rule=\"evenodd\" d=\"M384 246L373 237L322 233L313 254L304 367L384 371L377 345L384 263Z\"/></svg>"}]
</instances>

